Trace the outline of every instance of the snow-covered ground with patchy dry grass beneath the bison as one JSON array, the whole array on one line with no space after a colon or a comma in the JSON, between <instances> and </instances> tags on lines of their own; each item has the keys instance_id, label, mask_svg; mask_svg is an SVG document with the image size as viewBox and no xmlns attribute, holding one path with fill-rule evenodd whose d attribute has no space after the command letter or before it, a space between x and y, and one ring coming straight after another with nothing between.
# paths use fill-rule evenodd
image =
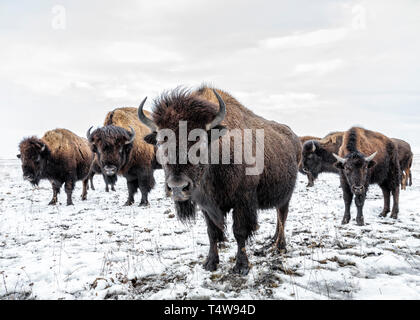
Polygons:
<instances>
[{"instance_id":1,"label":"snow-covered ground with patchy dry grass beneath the bison","mask_svg":"<svg viewBox=\"0 0 420 320\"><path fill-rule=\"evenodd\" d=\"M420 159L420 156L417 157ZM24 182L20 164L0 161L0 298L2 299L420 299L420 162L414 185L401 192L397 221L379 218L382 193L372 186L366 226L341 226L344 204L338 177L324 174L314 188L299 181L287 222L288 253L254 253L274 233L274 210L260 212L260 229L248 253L248 276L230 273L236 242L228 242L220 266L201 264L208 239L201 215L183 225L163 192L163 172L150 206L123 207L124 179L117 192L96 191L75 206L48 206L51 188ZM137 195L137 203L139 195Z\"/></svg>"}]
</instances>

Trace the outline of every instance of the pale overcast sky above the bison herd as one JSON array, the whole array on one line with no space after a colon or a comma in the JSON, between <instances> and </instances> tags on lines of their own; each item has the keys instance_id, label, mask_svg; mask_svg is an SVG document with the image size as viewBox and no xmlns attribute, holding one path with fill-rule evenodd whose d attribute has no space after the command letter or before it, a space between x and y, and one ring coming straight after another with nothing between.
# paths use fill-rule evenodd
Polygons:
<instances>
[{"instance_id":1,"label":"pale overcast sky above the bison herd","mask_svg":"<svg viewBox=\"0 0 420 320\"><path fill-rule=\"evenodd\" d=\"M0 158L203 82L298 135L361 125L420 152L419 31L417 0L2 0Z\"/></svg>"}]
</instances>

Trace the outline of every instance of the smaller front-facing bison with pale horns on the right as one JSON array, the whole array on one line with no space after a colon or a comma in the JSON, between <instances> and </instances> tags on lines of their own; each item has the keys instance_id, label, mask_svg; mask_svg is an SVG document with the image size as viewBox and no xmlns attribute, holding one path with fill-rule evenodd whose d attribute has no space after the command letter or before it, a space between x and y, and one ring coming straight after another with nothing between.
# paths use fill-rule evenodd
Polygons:
<instances>
[{"instance_id":1,"label":"smaller front-facing bison with pale horns on the right","mask_svg":"<svg viewBox=\"0 0 420 320\"><path fill-rule=\"evenodd\" d=\"M380 216L390 211L390 194L394 205L391 218L398 217L400 164L394 142L381 133L353 127L344 133L337 159L343 189L345 212L343 224L350 221L350 206L355 197L356 222L364 225L363 205L370 184L378 184L384 195L384 209Z\"/></svg>"}]
</instances>

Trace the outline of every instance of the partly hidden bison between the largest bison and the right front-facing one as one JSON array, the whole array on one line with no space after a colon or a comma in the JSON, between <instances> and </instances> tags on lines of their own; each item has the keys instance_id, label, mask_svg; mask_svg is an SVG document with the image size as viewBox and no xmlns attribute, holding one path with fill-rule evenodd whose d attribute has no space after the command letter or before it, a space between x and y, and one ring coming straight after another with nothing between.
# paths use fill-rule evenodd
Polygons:
<instances>
[{"instance_id":1,"label":"partly hidden bison between the largest bison and the right front-facing one","mask_svg":"<svg viewBox=\"0 0 420 320\"><path fill-rule=\"evenodd\" d=\"M339 173L333 153L338 153L344 132L331 132L324 138L307 140L302 147L302 170L315 181L323 172Z\"/></svg>"}]
</instances>

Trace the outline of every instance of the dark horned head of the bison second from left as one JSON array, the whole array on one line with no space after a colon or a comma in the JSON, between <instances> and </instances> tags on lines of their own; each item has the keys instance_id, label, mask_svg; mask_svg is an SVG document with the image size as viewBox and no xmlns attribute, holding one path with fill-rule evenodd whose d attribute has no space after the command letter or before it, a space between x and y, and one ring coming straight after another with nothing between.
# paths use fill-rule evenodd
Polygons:
<instances>
[{"instance_id":1,"label":"dark horned head of the bison second from left","mask_svg":"<svg viewBox=\"0 0 420 320\"><path fill-rule=\"evenodd\" d=\"M109 125L92 133L90 128L87 132L92 151L96 153L101 171L108 179L116 180L118 172L130 159L136 137L134 129L131 127L130 129L131 132Z\"/></svg>"}]
</instances>

